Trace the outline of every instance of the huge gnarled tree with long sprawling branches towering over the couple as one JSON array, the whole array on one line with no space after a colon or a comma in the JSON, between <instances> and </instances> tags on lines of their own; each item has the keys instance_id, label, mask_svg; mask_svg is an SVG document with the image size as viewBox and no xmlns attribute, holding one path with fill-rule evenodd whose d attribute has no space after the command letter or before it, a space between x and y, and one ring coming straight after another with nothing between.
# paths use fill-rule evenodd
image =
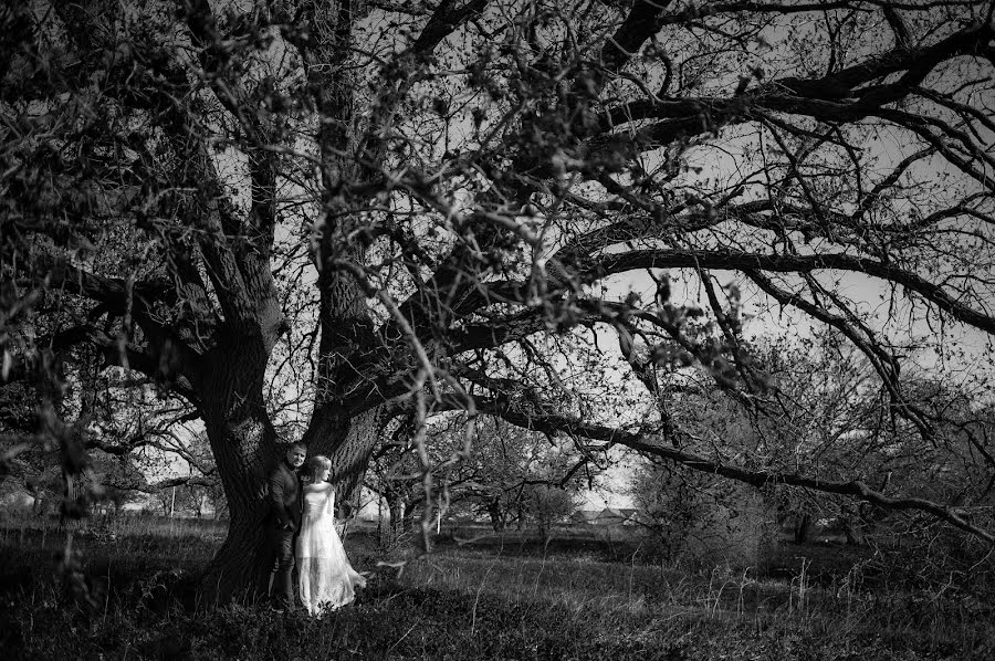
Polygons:
<instances>
[{"instance_id":1,"label":"huge gnarled tree with long sprawling branches towering over the couple","mask_svg":"<svg viewBox=\"0 0 995 661\"><path fill-rule=\"evenodd\" d=\"M87 347L202 419L231 513L219 599L263 570L277 426L350 494L391 419L417 444L452 409L465 443L427 487L488 413L993 542L971 517L995 475L984 402L951 421L917 391L991 369L951 352L995 333L993 7L7 3L2 380L36 412L4 465L33 439L85 466L63 395ZM877 375L852 397L980 482L883 493L859 462L691 429L674 409L703 376L761 427L784 415L761 322L834 329Z\"/></svg>"}]
</instances>

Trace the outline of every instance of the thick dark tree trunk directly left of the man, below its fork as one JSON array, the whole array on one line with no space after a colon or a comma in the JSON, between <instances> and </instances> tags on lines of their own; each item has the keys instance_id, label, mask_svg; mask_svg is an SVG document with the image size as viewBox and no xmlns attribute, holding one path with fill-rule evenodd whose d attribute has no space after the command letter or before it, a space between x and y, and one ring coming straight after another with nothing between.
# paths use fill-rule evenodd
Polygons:
<instances>
[{"instance_id":1,"label":"thick dark tree trunk directly left of the man, below its fork","mask_svg":"<svg viewBox=\"0 0 995 661\"><path fill-rule=\"evenodd\" d=\"M265 480L280 450L263 401L268 357L253 338L227 338L206 356L202 413L230 514L228 537L201 583L209 606L254 600L271 569Z\"/></svg>"}]
</instances>

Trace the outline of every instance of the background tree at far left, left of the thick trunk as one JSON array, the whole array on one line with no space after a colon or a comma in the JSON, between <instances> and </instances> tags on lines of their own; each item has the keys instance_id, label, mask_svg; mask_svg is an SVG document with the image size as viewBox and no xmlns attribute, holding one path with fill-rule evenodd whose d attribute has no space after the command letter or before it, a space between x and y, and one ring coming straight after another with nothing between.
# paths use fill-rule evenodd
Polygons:
<instances>
[{"instance_id":1,"label":"background tree at far left, left of the thick trunk","mask_svg":"<svg viewBox=\"0 0 995 661\"><path fill-rule=\"evenodd\" d=\"M38 324L30 326L38 329ZM190 413L188 406L154 385L108 367L91 348L76 347L73 355L60 374L57 390L0 390L0 429L8 432L0 449L19 449L7 464L7 478L59 506L63 518L82 516L92 504L119 510L126 494L154 489L146 472L155 474L165 454L185 455L177 427ZM23 443L24 434L30 438L46 428L59 430L57 444ZM81 447L66 454L73 440ZM213 471L209 450L206 470Z\"/></svg>"}]
</instances>

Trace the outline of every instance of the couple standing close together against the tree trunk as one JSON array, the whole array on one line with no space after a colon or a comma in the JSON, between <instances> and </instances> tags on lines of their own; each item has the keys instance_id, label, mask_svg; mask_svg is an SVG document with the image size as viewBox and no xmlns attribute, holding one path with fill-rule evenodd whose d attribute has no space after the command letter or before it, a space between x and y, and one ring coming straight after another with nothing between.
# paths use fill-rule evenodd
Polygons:
<instances>
[{"instance_id":1,"label":"couple standing close together against the tree trunk","mask_svg":"<svg viewBox=\"0 0 995 661\"><path fill-rule=\"evenodd\" d=\"M301 601L308 613L320 615L352 601L366 579L349 565L335 529L335 491L327 481L332 462L327 457L306 457L303 443L292 443L270 473L264 525L273 568L261 591L272 595L277 606L293 609L296 564Z\"/></svg>"}]
</instances>

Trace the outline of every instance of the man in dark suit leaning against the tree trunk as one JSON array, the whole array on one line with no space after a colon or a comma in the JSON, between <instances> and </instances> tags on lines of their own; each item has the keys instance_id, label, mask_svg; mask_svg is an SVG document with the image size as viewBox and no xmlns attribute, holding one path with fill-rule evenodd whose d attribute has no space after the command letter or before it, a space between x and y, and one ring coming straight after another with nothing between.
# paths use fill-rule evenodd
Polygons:
<instances>
[{"instance_id":1,"label":"man in dark suit leaning against the tree trunk","mask_svg":"<svg viewBox=\"0 0 995 661\"><path fill-rule=\"evenodd\" d=\"M294 541L301 528L301 482L297 469L307 457L307 447L297 441L287 447L286 454L266 481L270 511L264 526L270 537L272 569L263 594L272 596L277 608L293 609Z\"/></svg>"}]
</instances>

